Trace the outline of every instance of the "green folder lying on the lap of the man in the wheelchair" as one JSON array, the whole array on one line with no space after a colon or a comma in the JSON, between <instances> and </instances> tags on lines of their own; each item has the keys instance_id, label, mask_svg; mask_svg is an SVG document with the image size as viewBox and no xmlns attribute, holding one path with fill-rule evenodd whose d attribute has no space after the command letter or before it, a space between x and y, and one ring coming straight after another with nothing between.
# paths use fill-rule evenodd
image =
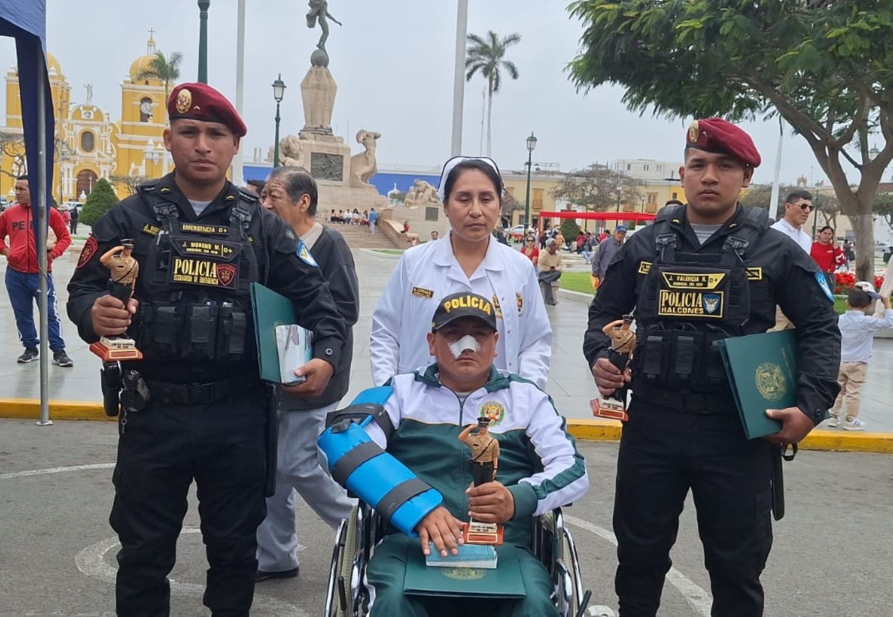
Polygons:
<instances>
[{"instance_id":1,"label":"green folder lying on the lap of the man in the wheelchair","mask_svg":"<svg viewBox=\"0 0 893 617\"><path fill-rule=\"evenodd\" d=\"M508 550L505 550L508 549ZM421 550L406 551L405 594L441 597L524 597L521 567L514 546L497 548L499 562L495 570L483 568L439 568L425 565Z\"/></svg>"}]
</instances>

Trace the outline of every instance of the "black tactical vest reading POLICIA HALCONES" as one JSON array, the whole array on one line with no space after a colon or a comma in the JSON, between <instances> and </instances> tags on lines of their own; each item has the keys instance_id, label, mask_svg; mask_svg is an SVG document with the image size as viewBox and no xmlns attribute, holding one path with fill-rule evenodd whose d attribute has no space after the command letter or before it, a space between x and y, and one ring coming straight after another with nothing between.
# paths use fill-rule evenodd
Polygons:
<instances>
[{"instance_id":1,"label":"black tactical vest reading POLICIA HALCONES","mask_svg":"<svg viewBox=\"0 0 893 617\"><path fill-rule=\"evenodd\" d=\"M750 316L747 249L768 228L768 214L747 208L722 253L677 251L685 206L655 219L655 261L636 307L636 381L656 388L713 394L728 388L717 341L744 334ZM635 388L633 388L635 389Z\"/></svg>"}]
</instances>

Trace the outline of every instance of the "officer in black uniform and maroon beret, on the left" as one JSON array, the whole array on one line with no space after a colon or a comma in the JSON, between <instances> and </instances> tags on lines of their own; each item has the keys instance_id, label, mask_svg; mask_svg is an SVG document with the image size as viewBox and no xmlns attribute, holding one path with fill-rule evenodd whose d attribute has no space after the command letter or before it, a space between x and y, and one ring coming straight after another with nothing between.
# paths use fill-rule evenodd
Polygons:
<instances>
[{"instance_id":1,"label":"officer in black uniform and maroon beret, on the left","mask_svg":"<svg viewBox=\"0 0 893 617\"><path fill-rule=\"evenodd\" d=\"M121 363L110 519L121 539L118 613L170 612L166 577L195 479L210 564L204 604L217 616L247 615L268 444L275 443L250 283L290 298L298 321L313 331L314 358L301 371L306 381L287 388L290 394L317 396L326 388L346 326L313 259L296 254L293 230L227 181L246 133L230 102L204 84L181 84L168 113L164 145L175 171L96 221L69 285L68 314L88 343L126 333L144 354ZM127 306L108 294L109 272L99 263L122 238L133 238L140 272ZM109 386L106 411L117 413Z\"/></svg>"}]
</instances>

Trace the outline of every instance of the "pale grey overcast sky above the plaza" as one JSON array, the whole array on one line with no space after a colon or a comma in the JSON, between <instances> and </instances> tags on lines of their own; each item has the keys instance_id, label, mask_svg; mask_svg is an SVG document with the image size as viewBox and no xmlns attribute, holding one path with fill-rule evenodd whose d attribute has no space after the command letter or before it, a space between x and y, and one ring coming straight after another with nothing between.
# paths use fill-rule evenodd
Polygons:
<instances>
[{"instance_id":1,"label":"pale grey overcast sky above the plaza","mask_svg":"<svg viewBox=\"0 0 893 617\"><path fill-rule=\"evenodd\" d=\"M196 79L198 9L194 0L47 0L47 46L62 64L72 102L83 101L83 84L94 84L95 104L121 115L121 80L130 63L146 53L147 30L165 54L185 55L181 81ZM518 32L507 58L520 77L503 80L493 102L493 156L505 169L521 169L524 139L533 130L534 161L559 163L569 171L588 163L649 158L675 161L685 145L690 119L639 117L621 103L622 88L601 87L584 96L563 71L576 54L580 22L566 2L471 0L469 32ZM378 130L380 163L440 166L449 155L455 0L330 0L343 27L330 24L330 70L338 83L333 128L355 152L358 129ZM282 104L282 133L304 125L300 81L310 66L320 30L307 29L307 4L300 0L247 0L246 88L243 141L246 161L255 146L273 141L275 104L271 83L281 72L288 85ZM208 80L235 99L236 0L212 0ZM0 38L0 64L15 63L10 38ZM466 83L463 154L480 154L481 92L484 79ZM0 104L4 104L0 102ZM2 110L4 112L4 110ZM755 181L772 181L778 146L777 121L745 127L763 155ZM351 135L347 135L348 130ZM823 178L805 140L784 141L781 180ZM887 174L885 174L885 179ZM857 179L855 174L852 180Z\"/></svg>"}]
</instances>

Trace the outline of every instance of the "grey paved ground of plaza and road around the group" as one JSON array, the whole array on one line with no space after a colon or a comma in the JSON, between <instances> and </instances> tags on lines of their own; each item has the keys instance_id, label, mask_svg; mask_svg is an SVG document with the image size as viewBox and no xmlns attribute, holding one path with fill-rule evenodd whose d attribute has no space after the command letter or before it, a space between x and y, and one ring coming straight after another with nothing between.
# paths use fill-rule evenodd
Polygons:
<instances>
[{"instance_id":1,"label":"grey paved ground of plaza and road around the group","mask_svg":"<svg viewBox=\"0 0 893 617\"><path fill-rule=\"evenodd\" d=\"M368 334L371 313L396 259L356 254L363 289L355 329L355 363L349 396L371 385ZM76 252L56 262L60 305ZM0 268L2 270L2 268ZM2 271L0 271L2 274ZM558 408L586 418L595 387L580 352L586 305L563 301L549 309L555 338L549 390ZM14 361L20 347L12 313L0 302L0 397L38 396L38 366ZM98 361L66 319L65 335L76 365L51 367L55 399L98 401ZM893 342L876 341L864 404L871 429L893 431L889 410ZM0 421L0 615L110 615L116 538L108 525L117 434L112 422ZM568 508L585 582L596 604L616 609L611 529L617 446L580 442L591 488ZM766 614L868 616L893 604L893 459L883 454L801 452L786 464L788 515L774 524L775 544L764 573ZM204 547L197 534L195 496L178 563L171 573L172 614L204 615ZM305 505L299 508L301 576L258 587L256 615L317 615L325 593L332 532ZM664 587L662 615L709 615L709 580L689 499L674 548L675 570Z\"/></svg>"}]
</instances>

